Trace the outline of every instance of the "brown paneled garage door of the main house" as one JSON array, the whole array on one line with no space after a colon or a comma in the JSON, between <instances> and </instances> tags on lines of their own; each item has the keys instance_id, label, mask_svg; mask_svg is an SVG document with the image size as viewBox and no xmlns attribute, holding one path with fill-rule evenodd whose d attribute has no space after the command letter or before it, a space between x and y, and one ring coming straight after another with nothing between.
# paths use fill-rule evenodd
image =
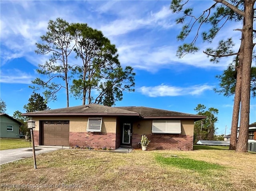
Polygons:
<instances>
[{"instance_id":1,"label":"brown paneled garage door of the main house","mask_svg":"<svg viewBox=\"0 0 256 191\"><path fill-rule=\"evenodd\" d=\"M69 121L43 121L43 145L69 146Z\"/></svg>"}]
</instances>

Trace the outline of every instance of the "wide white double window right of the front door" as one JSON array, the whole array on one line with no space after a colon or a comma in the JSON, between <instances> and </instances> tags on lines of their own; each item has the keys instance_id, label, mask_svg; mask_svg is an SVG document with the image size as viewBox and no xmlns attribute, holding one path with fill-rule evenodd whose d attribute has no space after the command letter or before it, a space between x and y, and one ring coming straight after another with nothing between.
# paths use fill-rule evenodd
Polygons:
<instances>
[{"instance_id":1,"label":"wide white double window right of the front door","mask_svg":"<svg viewBox=\"0 0 256 191\"><path fill-rule=\"evenodd\" d=\"M152 124L152 133L175 133L180 134L180 120L154 120Z\"/></svg>"}]
</instances>

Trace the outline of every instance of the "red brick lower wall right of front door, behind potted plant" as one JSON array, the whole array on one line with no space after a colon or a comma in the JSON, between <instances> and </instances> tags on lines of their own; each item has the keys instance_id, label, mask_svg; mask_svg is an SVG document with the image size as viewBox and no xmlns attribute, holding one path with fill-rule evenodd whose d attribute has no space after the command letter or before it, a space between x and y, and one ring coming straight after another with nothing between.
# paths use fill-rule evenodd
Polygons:
<instances>
[{"instance_id":1,"label":"red brick lower wall right of front door, behind potted plant","mask_svg":"<svg viewBox=\"0 0 256 191\"><path fill-rule=\"evenodd\" d=\"M132 147L138 148L140 134L132 134ZM146 134L150 143L149 149L193 150L193 136L181 134Z\"/></svg>"}]
</instances>

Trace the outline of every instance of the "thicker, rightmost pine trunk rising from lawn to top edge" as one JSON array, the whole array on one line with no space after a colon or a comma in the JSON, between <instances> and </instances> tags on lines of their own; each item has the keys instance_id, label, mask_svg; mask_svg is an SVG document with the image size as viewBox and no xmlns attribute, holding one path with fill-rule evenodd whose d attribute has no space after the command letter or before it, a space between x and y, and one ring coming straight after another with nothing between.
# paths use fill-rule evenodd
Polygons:
<instances>
[{"instance_id":1,"label":"thicker, rightmost pine trunk rising from lawn to top edge","mask_svg":"<svg viewBox=\"0 0 256 191\"><path fill-rule=\"evenodd\" d=\"M250 113L250 72L252 65L252 30L254 16L255 1L244 1L244 20L243 35L244 35L244 57L242 63L242 87L241 87L241 115L240 115L240 130L236 152L247 152L248 132L249 132L249 113Z\"/></svg>"}]
</instances>

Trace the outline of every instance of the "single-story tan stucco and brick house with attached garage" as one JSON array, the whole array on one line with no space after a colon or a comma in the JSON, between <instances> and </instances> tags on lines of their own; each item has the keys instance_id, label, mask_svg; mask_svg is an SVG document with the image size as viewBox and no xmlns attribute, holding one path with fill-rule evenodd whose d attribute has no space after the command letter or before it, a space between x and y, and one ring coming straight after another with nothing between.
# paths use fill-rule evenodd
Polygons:
<instances>
[{"instance_id":1,"label":"single-story tan stucco and brick house with attached garage","mask_svg":"<svg viewBox=\"0 0 256 191\"><path fill-rule=\"evenodd\" d=\"M205 116L148 107L108 107L98 104L22 114L36 121L36 145L112 148L140 147L192 150L194 122Z\"/></svg>"}]
</instances>

